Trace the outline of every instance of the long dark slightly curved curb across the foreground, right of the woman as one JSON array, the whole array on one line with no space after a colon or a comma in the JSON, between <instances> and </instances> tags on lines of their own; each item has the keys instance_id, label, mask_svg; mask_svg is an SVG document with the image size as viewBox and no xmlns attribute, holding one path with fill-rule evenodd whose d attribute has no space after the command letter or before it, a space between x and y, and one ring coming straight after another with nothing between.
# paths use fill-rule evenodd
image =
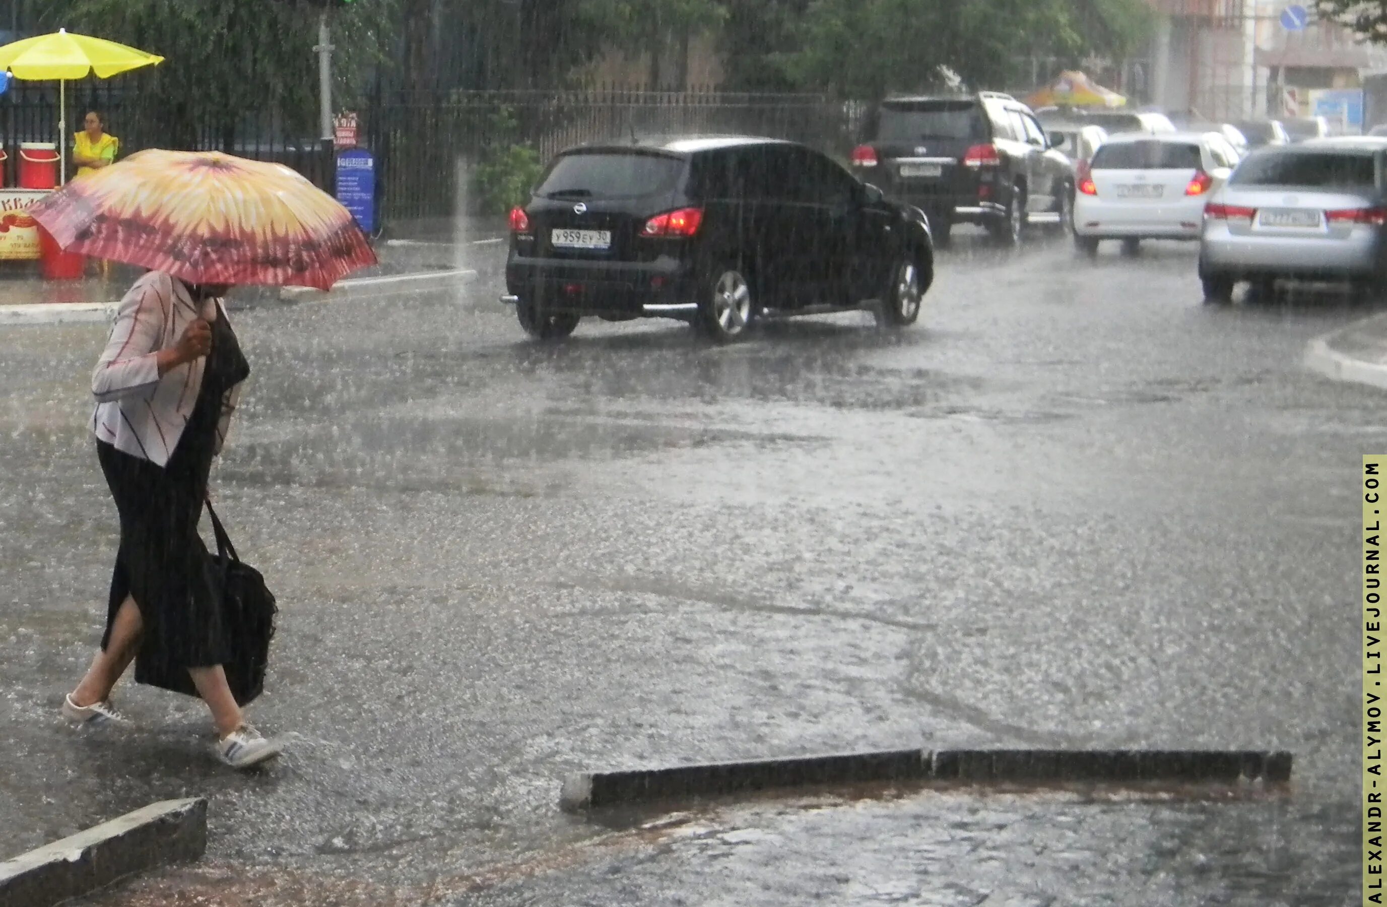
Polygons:
<instances>
[{"instance_id":1,"label":"long dark slightly curved curb across the foreground, right of the woman","mask_svg":"<svg viewBox=\"0 0 1387 907\"><path fill-rule=\"evenodd\" d=\"M559 807L578 813L651 800L863 781L967 784L1284 784L1291 754L1261 750L882 750L569 775Z\"/></svg>"}]
</instances>

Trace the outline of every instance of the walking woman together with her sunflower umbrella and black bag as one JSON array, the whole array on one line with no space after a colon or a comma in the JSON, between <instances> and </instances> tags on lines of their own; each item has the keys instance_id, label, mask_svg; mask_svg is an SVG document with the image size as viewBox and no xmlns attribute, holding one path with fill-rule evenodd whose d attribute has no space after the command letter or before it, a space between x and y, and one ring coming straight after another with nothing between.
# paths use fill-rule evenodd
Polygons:
<instances>
[{"instance_id":1,"label":"walking woman together with her sunflower umbrella and black bag","mask_svg":"<svg viewBox=\"0 0 1387 907\"><path fill-rule=\"evenodd\" d=\"M150 269L121 301L92 377L92 430L121 548L101 650L62 714L119 721L111 689L135 660L136 682L201 696L222 761L272 759L280 745L245 724L239 702L261 692L273 595L211 508L226 549L211 576L197 534L212 459L250 374L221 297L232 284L329 290L376 254L351 212L302 175L218 151L137 151L29 214L71 252Z\"/></svg>"}]
</instances>

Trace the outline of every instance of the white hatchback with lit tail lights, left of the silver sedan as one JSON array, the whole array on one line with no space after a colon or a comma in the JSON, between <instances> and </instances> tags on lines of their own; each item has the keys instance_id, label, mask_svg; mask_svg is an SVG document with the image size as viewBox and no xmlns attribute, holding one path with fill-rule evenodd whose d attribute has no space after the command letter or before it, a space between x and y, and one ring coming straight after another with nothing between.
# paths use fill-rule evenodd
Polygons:
<instances>
[{"instance_id":1,"label":"white hatchback with lit tail lights, left of the silver sedan","mask_svg":"<svg viewBox=\"0 0 1387 907\"><path fill-rule=\"evenodd\" d=\"M1227 182L1237 153L1216 132L1111 136L1078 175L1074 243L1198 240L1204 202Z\"/></svg>"}]
</instances>

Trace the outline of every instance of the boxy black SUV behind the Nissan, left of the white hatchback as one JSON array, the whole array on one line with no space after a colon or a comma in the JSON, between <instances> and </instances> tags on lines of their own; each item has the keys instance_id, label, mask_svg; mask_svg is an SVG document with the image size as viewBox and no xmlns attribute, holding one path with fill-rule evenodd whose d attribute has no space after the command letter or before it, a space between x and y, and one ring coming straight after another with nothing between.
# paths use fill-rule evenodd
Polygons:
<instances>
[{"instance_id":1,"label":"boxy black SUV behind the Nissan, left of the white hatchback","mask_svg":"<svg viewBox=\"0 0 1387 907\"><path fill-rule=\"evenodd\" d=\"M1010 94L886 100L867 137L853 151L857 173L922 208L939 244L954 223L983 225L1007 245L1026 223L1069 226L1074 164Z\"/></svg>"}]
</instances>

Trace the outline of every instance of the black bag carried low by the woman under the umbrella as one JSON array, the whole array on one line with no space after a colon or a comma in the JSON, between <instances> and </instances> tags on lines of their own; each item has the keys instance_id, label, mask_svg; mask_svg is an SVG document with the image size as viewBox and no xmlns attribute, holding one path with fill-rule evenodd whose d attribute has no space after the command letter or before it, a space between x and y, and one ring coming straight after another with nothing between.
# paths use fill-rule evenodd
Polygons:
<instances>
[{"instance_id":1,"label":"black bag carried low by the woman under the umbrella","mask_svg":"<svg viewBox=\"0 0 1387 907\"><path fill-rule=\"evenodd\" d=\"M212 517L212 533L216 535L216 553L208 553L207 576L212 591L222 596L223 630L232 652L222 670L236 705L245 706L265 692L269 642L275 638L279 609L259 570L236 556L236 548L211 501L207 502L207 515ZM137 666L136 674L141 684L186 696L198 695L187 668Z\"/></svg>"}]
</instances>

